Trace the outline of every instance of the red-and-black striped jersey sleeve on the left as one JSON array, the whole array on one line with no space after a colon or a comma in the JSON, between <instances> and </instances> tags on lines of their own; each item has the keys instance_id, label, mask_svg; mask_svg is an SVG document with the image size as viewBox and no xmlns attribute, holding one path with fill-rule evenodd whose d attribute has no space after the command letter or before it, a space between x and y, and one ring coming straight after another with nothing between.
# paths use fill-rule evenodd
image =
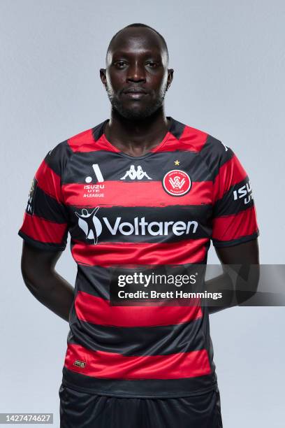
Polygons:
<instances>
[{"instance_id":1,"label":"red-and-black striped jersey sleeve on the left","mask_svg":"<svg viewBox=\"0 0 285 428\"><path fill-rule=\"evenodd\" d=\"M18 231L24 241L43 250L64 250L68 236L68 211L61 192L64 143L47 153L29 191L27 208Z\"/></svg>"}]
</instances>

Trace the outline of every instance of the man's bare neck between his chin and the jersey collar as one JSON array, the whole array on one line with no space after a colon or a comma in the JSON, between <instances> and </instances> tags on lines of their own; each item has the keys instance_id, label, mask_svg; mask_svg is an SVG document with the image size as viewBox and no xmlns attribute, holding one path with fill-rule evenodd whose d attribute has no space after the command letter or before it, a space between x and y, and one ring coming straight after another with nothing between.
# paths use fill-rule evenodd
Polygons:
<instances>
[{"instance_id":1,"label":"man's bare neck between his chin and the jersey collar","mask_svg":"<svg viewBox=\"0 0 285 428\"><path fill-rule=\"evenodd\" d=\"M153 115L140 120L126 119L112 109L104 134L122 152L142 156L161 143L169 125L163 106Z\"/></svg>"}]
</instances>

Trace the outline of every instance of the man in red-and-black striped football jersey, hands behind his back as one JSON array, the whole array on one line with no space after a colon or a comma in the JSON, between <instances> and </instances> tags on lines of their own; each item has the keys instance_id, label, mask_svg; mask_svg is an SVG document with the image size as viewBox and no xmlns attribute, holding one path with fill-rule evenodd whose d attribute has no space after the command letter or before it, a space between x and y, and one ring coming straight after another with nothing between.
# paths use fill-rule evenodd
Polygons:
<instances>
[{"instance_id":1,"label":"man in red-and-black striped football jersey, hands behind his back","mask_svg":"<svg viewBox=\"0 0 285 428\"><path fill-rule=\"evenodd\" d=\"M100 74L110 119L47 153L19 231L24 282L70 322L61 427L221 427L208 318L219 308L110 295L133 266L206 264L210 239L222 264L258 265L247 173L219 140L166 117L173 69L156 30L118 31ZM54 270L68 231L75 290Z\"/></svg>"}]
</instances>

